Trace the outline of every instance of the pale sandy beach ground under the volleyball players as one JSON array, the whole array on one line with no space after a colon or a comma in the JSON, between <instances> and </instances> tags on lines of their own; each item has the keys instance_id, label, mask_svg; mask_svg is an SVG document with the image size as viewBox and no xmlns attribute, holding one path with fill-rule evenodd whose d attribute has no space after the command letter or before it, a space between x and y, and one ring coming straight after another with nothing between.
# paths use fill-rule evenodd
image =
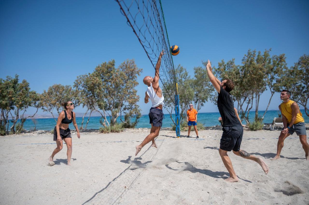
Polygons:
<instances>
[{"instance_id":1,"label":"pale sandy beach ground under the volleyball players","mask_svg":"<svg viewBox=\"0 0 309 205\"><path fill-rule=\"evenodd\" d=\"M237 183L218 153L221 130L200 131L200 139L176 138L167 128L135 157L150 129L121 133L72 132L72 166L66 145L47 166L56 144L46 131L0 138L1 204L309 204L309 162L296 134L275 156L280 131L245 131L241 149L261 157L255 162L229 153ZM194 132L192 134L195 134ZM307 135L309 131L307 130ZM195 136L195 135L193 135Z\"/></svg>"}]
</instances>

